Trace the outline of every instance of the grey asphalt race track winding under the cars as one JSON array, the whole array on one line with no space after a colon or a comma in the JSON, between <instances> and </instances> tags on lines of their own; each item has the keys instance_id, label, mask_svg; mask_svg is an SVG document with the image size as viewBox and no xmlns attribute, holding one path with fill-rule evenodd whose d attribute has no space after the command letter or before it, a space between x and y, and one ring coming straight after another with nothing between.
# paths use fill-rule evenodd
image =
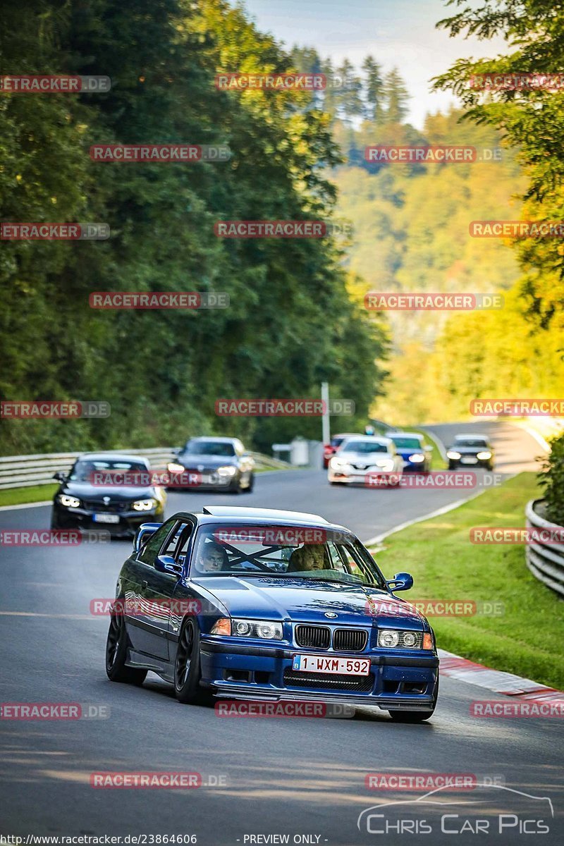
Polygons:
<instances>
[{"instance_id":1,"label":"grey asphalt race track winding under the cars","mask_svg":"<svg viewBox=\"0 0 564 846\"><path fill-rule=\"evenodd\" d=\"M432 428L446 440L452 434ZM541 450L526 432L508 424L492 431L499 470L534 469L531 461ZM367 540L473 493L341 489L328 486L321 471L299 470L260 475L248 496L171 494L168 514L206 502L293 508L323 514ZM48 508L3 511L0 527L46 528L48 516ZM212 708L180 705L171 687L152 674L140 689L112 684L104 671L108 621L91 616L89 607L92 598L113 596L127 552L124 542L79 550L3 549L1 699L109 709L105 719L0 721L3 835L194 834L204 846L281 843L268 836L288 835L288 843L435 846L454 835L442 834L440 812L420 803L405 806L404 833L397 820L392 833L367 833L365 817L359 830L363 810L398 799L413 802L419 795L370 790L364 778L370 772L465 772L503 780L510 789L441 794L449 802L479 800L446 809L458 815L446 828L464 829L458 843L563 842L561 722L470 717L472 700L496 698L474 685L442 678L435 716L418 726L393 723L385 712L370 709L353 719L219 718ZM211 786L94 789L90 773L97 771L200 772ZM213 777L221 786L214 786ZM550 797L555 818L545 799L521 794ZM386 814L392 819L392 810ZM501 835L499 814L515 815L507 816ZM519 834L525 817L528 832L539 831L539 817L550 831ZM473 833L477 820L481 832ZM410 833L406 821L419 833ZM430 833L421 831L422 821ZM373 829L382 825L381 818L370 821Z\"/></svg>"}]
</instances>

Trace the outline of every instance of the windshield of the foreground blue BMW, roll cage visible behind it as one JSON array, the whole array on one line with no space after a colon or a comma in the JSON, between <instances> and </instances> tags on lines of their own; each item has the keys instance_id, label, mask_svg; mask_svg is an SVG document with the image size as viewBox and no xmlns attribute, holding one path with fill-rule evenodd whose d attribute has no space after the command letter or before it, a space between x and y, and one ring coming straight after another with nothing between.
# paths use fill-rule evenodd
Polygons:
<instances>
[{"instance_id":1,"label":"windshield of the foreground blue BMW, roll cage visible behind it","mask_svg":"<svg viewBox=\"0 0 564 846\"><path fill-rule=\"evenodd\" d=\"M386 589L369 552L348 533L264 524L206 525L199 530L190 578L253 574Z\"/></svg>"}]
</instances>

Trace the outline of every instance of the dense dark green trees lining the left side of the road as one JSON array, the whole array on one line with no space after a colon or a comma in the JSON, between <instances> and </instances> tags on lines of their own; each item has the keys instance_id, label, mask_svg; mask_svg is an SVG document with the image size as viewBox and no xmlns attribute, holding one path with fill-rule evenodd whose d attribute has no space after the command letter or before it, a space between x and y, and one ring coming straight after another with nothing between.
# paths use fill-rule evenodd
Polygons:
<instances>
[{"instance_id":1,"label":"dense dark green trees lining the left side of the road","mask_svg":"<svg viewBox=\"0 0 564 846\"><path fill-rule=\"evenodd\" d=\"M3 221L106 222L101 241L3 240L0 396L96 399L107 420L0 420L0 453L179 443L249 445L315 418L218 418L217 398L350 398L382 390L386 332L346 287L342 245L219 239L222 219L331 218L341 154L308 91L218 91L216 72L292 60L222 0L8 3L2 67L96 74L101 94L0 95ZM100 143L229 146L228 162L93 162ZM92 310L93 291L221 291L227 309ZM347 420L354 426L355 420Z\"/></svg>"}]
</instances>

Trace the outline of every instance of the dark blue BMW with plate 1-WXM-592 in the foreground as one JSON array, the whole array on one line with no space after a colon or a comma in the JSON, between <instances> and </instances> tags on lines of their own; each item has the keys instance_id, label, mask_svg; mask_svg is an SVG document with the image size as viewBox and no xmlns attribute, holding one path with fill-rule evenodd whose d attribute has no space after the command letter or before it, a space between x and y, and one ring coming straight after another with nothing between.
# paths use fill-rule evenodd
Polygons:
<instances>
[{"instance_id":1,"label":"dark blue BMW with plate 1-WXM-592 in the foreground","mask_svg":"<svg viewBox=\"0 0 564 846\"><path fill-rule=\"evenodd\" d=\"M426 618L394 596L412 585L315 514L175 514L142 526L123 564L107 675L142 684L152 670L181 702L344 702L420 722L439 660Z\"/></svg>"}]
</instances>

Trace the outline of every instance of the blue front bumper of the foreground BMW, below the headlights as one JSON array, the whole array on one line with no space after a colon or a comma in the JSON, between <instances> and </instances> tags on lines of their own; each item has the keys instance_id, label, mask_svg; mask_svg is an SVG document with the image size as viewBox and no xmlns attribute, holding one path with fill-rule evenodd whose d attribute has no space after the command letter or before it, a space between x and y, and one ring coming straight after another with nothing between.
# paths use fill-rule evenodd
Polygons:
<instances>
[{"instance_id":1,"label":"blue front bumper of the foreground BMW, below the headlights","mask_svg":"<svg viewBox=\"0 0 564 846\"><path fill-rule=\"evenodd\" d=\"M227 638L202 635L202 684L213 688L216 695L232 699L341 701L408 711L435 707L439 659L429 651L339 653L340 657L370 657L369 676L296 673L296 652L308 654L310 650L288 645L235 645Z\"/></svg>"}]
</instances>

